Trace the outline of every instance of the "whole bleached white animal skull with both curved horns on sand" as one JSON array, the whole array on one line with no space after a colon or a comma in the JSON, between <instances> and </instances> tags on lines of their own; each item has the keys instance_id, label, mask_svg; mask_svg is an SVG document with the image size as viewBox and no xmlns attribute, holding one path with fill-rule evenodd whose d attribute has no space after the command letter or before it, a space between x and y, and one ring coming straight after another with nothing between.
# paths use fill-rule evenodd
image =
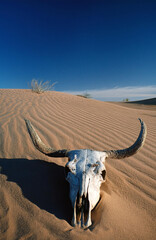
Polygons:
<instances>
[{"instance_id":1,"label":"whole bleached white animal skull with both curved horns on sand","mask_svg":"<svg viewBox=\"0 0 156 240\"><path fill-rule=\"evenodd\" d=\"M65 166L65 177L70 185L70 200L73 207L72 225L89 227L91 210L100 200L100 186L105 181L105 159L121 159L135 154L144 144L146 138L146 125L140 120L141 130L136 142L123 150L94 151L89 149L55 150L46 146L36 133L29 120L26 125L35 147L50 157L68 157Z\"/></svg>"}]
</instances>

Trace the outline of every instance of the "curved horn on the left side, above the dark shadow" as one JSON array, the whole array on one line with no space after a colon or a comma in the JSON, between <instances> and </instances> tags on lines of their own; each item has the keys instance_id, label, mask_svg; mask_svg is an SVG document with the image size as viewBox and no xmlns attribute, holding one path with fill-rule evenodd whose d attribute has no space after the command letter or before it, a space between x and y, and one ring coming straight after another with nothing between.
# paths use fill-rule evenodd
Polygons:
<instances>
[{"instance_id":1,"label":"curved horn on the left side, above the dark shadow","mask_svg":"<svg viewBox=\"0 0 156 240\"><path fill-rule=\"evenodd\" d=\"M66 149L63 150L55 150L51 147L46 146L38 134L36 133L34 127L32 126L31 122L27 119L25 119L26 126L28 129L28 132L30 134L30 137L32 139L32 142L34 146L42 153L48 155L49 157L66 157L68 151Z\"/></svg>"}]
</instances>

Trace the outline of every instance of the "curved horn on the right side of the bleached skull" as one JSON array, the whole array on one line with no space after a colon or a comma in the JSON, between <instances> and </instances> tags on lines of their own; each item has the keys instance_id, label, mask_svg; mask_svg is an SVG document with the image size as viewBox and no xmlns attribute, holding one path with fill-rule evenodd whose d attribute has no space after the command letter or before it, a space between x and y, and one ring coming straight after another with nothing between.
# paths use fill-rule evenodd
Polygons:
<instances>
[{"instance_id":1,"label":"curved horn on the right side of the bleached skull","mask_svg":"<svg viewBox=\"0 0 156 240\"><path fill-rule=\"evenodd\" d=\"M143 146L146 139L147 127L140 118L139 118L139 121L141 123L141 130L136 142L131 147L125 148L122 150L104 151L106 152L108 158L120 159L120 158L130 157L133 154L135 154Z\"/></svg>"}]
</instances>

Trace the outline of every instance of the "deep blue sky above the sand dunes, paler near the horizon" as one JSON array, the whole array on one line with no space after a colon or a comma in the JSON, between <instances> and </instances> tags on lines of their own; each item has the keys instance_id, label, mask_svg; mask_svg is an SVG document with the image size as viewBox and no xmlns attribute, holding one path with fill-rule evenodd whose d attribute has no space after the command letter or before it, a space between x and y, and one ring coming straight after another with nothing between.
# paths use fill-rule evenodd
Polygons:
<instances>
[{"instance_id":1,"label":"deep blue sky above the sand dunes, paler near the horizon","mask_svg":"<svg viewBox=\"0 0 156 240\"><path fill-rule=\"evenodd\" d=\"M0 88L156 86L155 0L0 0ZM155 91L156 94L156 91Z\"/></svg>"}]
</instances>

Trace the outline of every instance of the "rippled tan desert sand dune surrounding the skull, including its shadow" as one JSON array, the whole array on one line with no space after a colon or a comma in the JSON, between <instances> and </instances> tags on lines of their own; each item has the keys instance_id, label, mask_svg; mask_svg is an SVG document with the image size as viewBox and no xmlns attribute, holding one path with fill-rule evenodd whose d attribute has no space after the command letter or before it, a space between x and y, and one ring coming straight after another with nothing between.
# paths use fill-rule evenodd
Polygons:
<instances>
[{"instance_id":1,"label":"rippled tan desert sand dune surrounding the skull, including its shadow","mask_svg":"<svg viewBox=\"0 0 156 240\"><path fill-rule=\"evenodd\" d=\"M35 149L24 119L57 149L129 147L141 118L147 139L134 156L106 162L107 180L93 225L70 224L66 158ZM0 90L0 240L154 240L156 238L156 109L105 103L59 92Z\"/></svg>"}]
</instances>

